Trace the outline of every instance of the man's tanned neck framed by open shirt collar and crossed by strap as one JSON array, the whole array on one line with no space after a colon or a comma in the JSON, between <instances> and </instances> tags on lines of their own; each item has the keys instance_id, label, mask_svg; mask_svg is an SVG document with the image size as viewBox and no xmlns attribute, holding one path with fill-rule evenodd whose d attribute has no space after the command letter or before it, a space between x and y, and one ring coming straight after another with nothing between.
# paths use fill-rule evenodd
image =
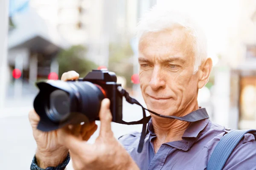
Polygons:
<instances>
[{"instance_id":1,"label":"man's tanned neck framed by open shirt collar and crossed by strap","mask_svg":"<svg viewBox=\"0 0 256 170\"><path fill-rule=\"evenodd\" d=\"M179 115L185 116L198 110L198 108L198 104L196 103L195 106L186 109L186 111L183 111L182 114ZM152 124L154 127L154 133L157 136L154 140L154 150L156 153L161 144L181 140L183 133L189 127L190 122L152 116Z\"/></svg>"}]
</instances>

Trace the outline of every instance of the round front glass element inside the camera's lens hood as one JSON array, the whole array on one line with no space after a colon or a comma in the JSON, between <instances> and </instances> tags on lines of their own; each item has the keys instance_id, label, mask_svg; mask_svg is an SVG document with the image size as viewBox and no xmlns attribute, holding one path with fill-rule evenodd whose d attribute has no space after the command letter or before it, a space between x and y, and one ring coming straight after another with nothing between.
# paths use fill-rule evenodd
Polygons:
<instances>
[{"instance_id":1,"label":"round front glass element inside the camera's lens hood","mask_svg":"<svg viewBox=\"0 0 256 170\"><path fill-rule=\"evenodd\" d=\"M49 96L47 116L53 122L62 122L70 116L70 98L62 90L55 90Z\"/></svg>"}]
</instances>

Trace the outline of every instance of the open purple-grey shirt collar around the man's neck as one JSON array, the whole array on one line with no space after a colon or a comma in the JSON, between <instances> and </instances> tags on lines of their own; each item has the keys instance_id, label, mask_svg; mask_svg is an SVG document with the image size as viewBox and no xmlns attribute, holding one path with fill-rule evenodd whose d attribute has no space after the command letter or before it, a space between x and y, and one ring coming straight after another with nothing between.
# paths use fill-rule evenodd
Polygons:
<instances>
[{"instance_id":1,"label":"open purple-grey shirt collar around the man's neck","mask_svg":"<svg viewBox=\"0 0 256 170\"><path fill-rule=\"evenodd\" d=\"M197 111L194 111L195 114L199 111L204 111L207 114L207 111L205 109L198 109ZM200 116L200 114L197 114ZM204 128L207 126L209 123L209 118L208 119L202 119L197 122L192 122L190 123L189 127L185 130L182 136L182 140L180 141L174 141L174 142L167 142L166 144L176 147L177 149L181 150L189 150L192 144L195 143L195 141L198 139L200 136L201 132L204 130ZM156 137L156 134L154 133L154 127L152 124L152 120L150 119L148 122L148 132L150 133L149 140Z\"/></svg>"}]
</instances>

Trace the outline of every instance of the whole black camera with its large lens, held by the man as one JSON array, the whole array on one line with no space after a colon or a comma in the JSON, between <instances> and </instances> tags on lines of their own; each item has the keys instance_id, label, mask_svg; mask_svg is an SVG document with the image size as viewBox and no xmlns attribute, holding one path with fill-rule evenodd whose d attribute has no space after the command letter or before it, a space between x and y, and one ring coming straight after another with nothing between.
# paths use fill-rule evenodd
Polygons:
<instances>
[{"instance_id":1,"label":"whole black camera with its large lens, held by the man","mask_svg":"<svg viewBox=\"0 0 256 170\"><path fill-rule=\"evenodd\" d=\"M84 78L63 82L38 82L39 93L34 108L40 116L38 129L56 130L68 124L99 120L104 98L110 99L112 122L122 121L122 95L117 88L115 73L106 69L93 70Z\"/></svg>"}]
</instances>

